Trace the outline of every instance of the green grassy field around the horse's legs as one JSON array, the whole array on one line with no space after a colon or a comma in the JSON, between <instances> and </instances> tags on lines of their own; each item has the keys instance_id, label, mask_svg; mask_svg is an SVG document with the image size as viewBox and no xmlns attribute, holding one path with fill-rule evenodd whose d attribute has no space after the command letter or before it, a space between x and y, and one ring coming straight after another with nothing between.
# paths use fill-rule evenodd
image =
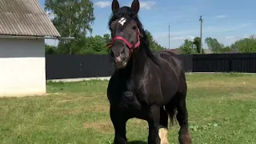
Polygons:
<instances>
[{"instance_id":1,"label":"green grassy field around the horse's legs","mask_svg":"<svg viewBox=\"0 0 256 144\"><path fill-rule=\"evenodd\" d=\"M256 143L255 74L186 74L186 78L194 144ZM112 143L107 83L48 82L46 96L0 98L0 143ZM130 144L146 143L147 128L145 121L131 119ZM169 135L171 143L178 143L178 123Z\"/></svg>"}]
</instances>

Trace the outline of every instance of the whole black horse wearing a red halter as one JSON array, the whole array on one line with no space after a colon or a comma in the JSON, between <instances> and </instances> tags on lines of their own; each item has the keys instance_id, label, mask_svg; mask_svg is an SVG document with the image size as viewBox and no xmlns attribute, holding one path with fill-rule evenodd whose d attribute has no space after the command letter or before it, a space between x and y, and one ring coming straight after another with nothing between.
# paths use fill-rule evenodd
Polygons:
<instances>
[{"instance_id":1,"label":"whole black horse wearing a red halter","mask_svg":"<svg viewBox=\"0 0 256 144\"><path fill-rule=\"evenodd\" d=\"M173 122L177 110L178 140L190 144L187 86L182 63L172 52L152 53L138 19L139 7L138 0L134 0L131 7L122 8L117 0L112 2L109 47L116 69L110 78L107 97L115 131L114 143L126 143L126 122L130 118L148 122L148 143L169 143L168 114Z\"/></svg>"}]
</instances>

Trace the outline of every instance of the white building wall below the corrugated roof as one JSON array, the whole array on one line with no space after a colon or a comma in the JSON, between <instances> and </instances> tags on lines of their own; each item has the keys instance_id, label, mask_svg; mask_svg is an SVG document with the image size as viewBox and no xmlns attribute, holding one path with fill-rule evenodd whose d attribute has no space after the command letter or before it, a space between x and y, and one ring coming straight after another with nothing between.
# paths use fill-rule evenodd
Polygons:
<instances>
[{"instance_id":1,"label":"white building wall below the corrugated roof","mask_svg":"<svg viewBox=\"0 0 256 144\"><path fill-rule=\"evenodd\" d=\"M0 38L0 97L46 94L44 39Z\"/></svg>"}]
</instances>

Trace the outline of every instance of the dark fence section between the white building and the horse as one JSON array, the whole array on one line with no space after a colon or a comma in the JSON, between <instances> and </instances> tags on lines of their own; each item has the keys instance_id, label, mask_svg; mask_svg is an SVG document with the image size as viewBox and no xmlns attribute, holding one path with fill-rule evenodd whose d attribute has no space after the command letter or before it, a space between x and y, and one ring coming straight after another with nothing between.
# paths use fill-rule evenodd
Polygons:
<instances>
[{"instance_id":1,"label":"dark fence section between the white building and the horse","mask_svg":"<svg viewBox=\"0 0 256 144\"><path fill-rule=\"evenodd\" d=\"M46 79L108 77L113 72L106 54L46 54Z\"/></svg>"}]
</instances>

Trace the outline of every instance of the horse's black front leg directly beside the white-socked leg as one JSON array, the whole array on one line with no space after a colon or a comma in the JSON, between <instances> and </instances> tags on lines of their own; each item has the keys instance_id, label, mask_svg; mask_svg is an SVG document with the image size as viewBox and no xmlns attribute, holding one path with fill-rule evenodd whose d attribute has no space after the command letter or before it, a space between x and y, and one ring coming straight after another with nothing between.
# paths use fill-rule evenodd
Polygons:
<instances>
[{"instance_id":1,"label":"horse's black front leg directly beside the white-socked leg","mask_svg":"<svg viewBox=\"0 0 256 144\"><path fill-rule=\"evenodd\" d=\"M159 119L160 119L160 107L151 106L150 115L148 119L148 124L149 124L148 143L149 144L160 144L161 142L158 135Z\"/></svg>"}]
</instances>

